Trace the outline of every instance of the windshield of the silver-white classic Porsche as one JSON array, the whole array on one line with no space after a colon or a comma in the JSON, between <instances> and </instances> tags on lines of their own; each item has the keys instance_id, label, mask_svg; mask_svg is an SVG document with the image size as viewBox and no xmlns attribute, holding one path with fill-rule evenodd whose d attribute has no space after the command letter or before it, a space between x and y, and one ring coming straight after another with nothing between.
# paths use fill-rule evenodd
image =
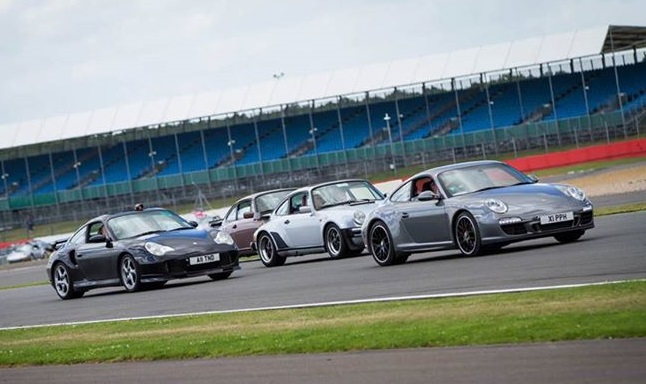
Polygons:
<instances>
[{"instance_id":1,"label":"windshield of the silver-white classic Porsche","mask_svg":"<svg viewBox=\"0 0 646 384\"><path fill-rule=\"evenodd\" d=\"M312 190L314 207L331 207L356 201L382 200L381 192L367 181L345 181Z\"/></svg>"}]
</instances>

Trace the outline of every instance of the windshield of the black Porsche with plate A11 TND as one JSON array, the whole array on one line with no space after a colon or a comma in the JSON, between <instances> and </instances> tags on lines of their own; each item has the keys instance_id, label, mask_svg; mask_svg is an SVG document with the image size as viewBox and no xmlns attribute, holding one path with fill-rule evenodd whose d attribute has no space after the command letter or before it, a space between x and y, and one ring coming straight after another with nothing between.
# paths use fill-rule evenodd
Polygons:
<instances>
[{"instance_id":1,"label":"windshield of the black Porsche with plate A11 TND","mask_svg":"<svg viewBox=\"0 0 646 384\"><path fill-rule=\"evenodd\" d=\"M191 229L193 226L171 211L132 212L108 220L108 227L117 240L149 233Z\"/></svg>"}]
</instances>

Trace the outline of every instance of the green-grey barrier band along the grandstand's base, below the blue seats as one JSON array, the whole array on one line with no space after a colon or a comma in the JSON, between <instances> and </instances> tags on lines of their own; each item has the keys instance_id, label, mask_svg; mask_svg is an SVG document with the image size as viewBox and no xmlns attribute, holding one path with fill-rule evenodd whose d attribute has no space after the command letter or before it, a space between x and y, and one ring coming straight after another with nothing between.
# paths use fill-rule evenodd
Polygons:
<instances>
[{"instance_id":1,"label":"green-grey barrier band along the grandstand's base, below the blue seats","mask_svg":"<svg viewBox=\"0 0 646 384\"><path fill-rule=\"evenodd\" d=\"M394 141L392 144L365 146L300 157L271 160L262 163L232 165L208 171L157 176L128 182L88 186L73 190L43 193L0 199L0 211L19 211L44 206L67 204L95 205L97 212L115 205L115 197L129 205L132 201L146 199L152 204L168 204L173 196L184 198L194 193L193 186L209 186L211 195L224 198L267 189L273 186L302 185L317 178L334 178L368 175L405 166L427 165L436 162L460 161L468 158L491 158L506 154L515 157L519 152L550 152L563 146L589 145L610 142L629 136L640 135L640 116L625 117L621 112L529 123L519 126L482 130L476 132L453 132L449 135ZM494 136L495 135L495 136ZM494 145L495 143L495 145ZM264 175L271 175L264 177ZM270 179L268 181L268 179ZM275 185L272 185L274 183ZM242 190L237 190L233 185ZM168 191L165 196L162 192ZM162 196L160 199L159 196ZM120 207L120 206L118 206Z\"/></svg>"}]
</instances>

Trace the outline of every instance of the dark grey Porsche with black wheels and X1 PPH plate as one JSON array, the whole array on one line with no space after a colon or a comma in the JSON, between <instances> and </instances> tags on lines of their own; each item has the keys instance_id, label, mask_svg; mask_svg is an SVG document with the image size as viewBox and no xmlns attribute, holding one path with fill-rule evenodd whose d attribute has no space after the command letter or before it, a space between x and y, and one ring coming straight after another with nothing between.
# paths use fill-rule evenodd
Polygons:
<instances>
[{"instance_id":1,"label":"dark grey Porsche with black wheels and X1 PPH plate","mask_svg":"<svg viewBox=\"0 0 646 384\"><path fill-rule=\"evenodd\" d=\"M420 172L367 215L363 241L377 264L406 262L415 252L492 252L513 242L553 236L578 240L594 228L579 188L539 183L499 161L452 164Z\"/></svg>"}]
</instances>

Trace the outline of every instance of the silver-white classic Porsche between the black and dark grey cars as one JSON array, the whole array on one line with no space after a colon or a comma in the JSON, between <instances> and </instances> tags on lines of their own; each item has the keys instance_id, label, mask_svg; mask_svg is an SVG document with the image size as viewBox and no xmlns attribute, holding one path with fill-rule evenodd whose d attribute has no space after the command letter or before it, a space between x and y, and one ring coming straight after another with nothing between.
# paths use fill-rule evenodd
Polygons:
<instances>
[{"instance_id":1,"label":"silver-white classic Porsche between the black and dark grey cars","mask_svg":"<svg viewBox=\"0 0 646 384\"><path fill-rule=\"evenodd\" d=\"M254 233L254 247L267 267L287 256L327 252L332 258L365 249L361 224L383 194L369 181L341 180L297 189L287 195Z\"/></svg>"}]
</instances>

